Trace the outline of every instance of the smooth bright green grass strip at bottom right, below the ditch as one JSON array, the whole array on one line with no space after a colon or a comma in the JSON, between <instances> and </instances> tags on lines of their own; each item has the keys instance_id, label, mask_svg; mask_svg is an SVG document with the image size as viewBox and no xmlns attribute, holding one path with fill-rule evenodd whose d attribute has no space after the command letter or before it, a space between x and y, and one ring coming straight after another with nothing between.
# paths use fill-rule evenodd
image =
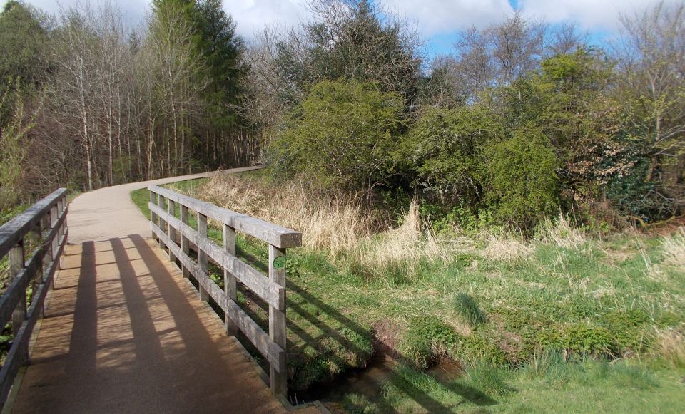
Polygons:
<instances>
[{"instance_id":1,"label":"smooth bright green grass strip at bottom right, below the ditch","mask_svg":"<svg viewBox=\"0 0 685 414\"><path fill-rule=\"evenodd\" d=\"M651 372L632 362L563 362L556 370L530 377L480 363L453 381L397 366L384 393L375 400L346 395L350 412L384 413L681 413L685 371L656 368ZM365 411L361 411L365 410Z\"/></svg>"}]
</instances>

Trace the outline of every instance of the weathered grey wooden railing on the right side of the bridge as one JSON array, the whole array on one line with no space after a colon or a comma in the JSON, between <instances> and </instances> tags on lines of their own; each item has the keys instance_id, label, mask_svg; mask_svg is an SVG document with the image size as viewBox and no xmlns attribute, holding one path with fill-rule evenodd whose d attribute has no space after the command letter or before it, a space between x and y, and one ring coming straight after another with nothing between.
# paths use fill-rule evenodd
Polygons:
<instances>
[{"instance_id":1,"label":"weathered grey wooden railing on the right side of the bridge","mask_svg":"<svg viewBox=\"0 0 685 414\"><path fill-rule=\"evenodd\" d=\"M302 234L166 188L151 186L148 190L153 237L159 240L161 247L168 248L171 261L178 260L181 263L183 276L193 275L198 281L200 298L208 301L211 297L223 309L227 333L233 335L240 329L269 362L273 393L285 394L288 378L285 353L285 249L300 247ZM177 204L180 206L179 218L175 217ZM197 214L197 229L188 224L191 211ZM222 225L223 246L218 246L207 237L208 219ZM236 231L269 244L268 277L235 257ZM191 258L191 244L196 249L197 262ZM208 258L223 269L223 291L209 277ZM237 301L238 281L268 303L268 333L240 309Z\"/></svg>"}]
</instances>

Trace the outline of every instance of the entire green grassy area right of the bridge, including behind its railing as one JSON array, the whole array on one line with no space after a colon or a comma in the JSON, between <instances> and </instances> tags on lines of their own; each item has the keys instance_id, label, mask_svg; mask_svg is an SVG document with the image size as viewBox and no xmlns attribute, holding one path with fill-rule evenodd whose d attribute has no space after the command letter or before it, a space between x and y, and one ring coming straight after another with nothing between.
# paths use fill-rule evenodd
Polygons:
<instances>
[{"instance_id":1,"label":"entire green grassy area right of the bridge, including behind its railing","mask_svg":"<svg viewBox=\"0 0 685 414\"><path fill-rule=\"evenodd\" d=\"M146 212L147 190L132 198ZM210 237L219 242L218 229ZM239 257L265 269L265 244L237 244ZM685 271L664 262L661 239L531 248L519 260L468 251L425 262L401 283L368 278L327 252L290 249L290 388L367 366L382 322L401 362L380 400L354 392L336 400L350 412L683 412L685 371L659 357L654 332L685 321ZM238 299L266 325L260 301L249 291ZM445 382L424 371L445 357L463 361L465 375Z\"/></svg>"}]
</instances>

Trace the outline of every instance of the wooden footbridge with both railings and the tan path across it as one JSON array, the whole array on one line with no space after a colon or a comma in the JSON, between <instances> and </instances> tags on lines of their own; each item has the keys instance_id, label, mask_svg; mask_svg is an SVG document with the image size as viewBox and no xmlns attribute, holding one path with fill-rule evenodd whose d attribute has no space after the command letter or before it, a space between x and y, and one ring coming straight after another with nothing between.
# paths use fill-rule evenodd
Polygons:
<instances>
[{"instance_id":1,"label":"wooden footbridge with both railings and the tan path across it","mask_svg":"<svg viewBox=\"0 0 685 414\"><path fill-rule=\"evenodd\" d=\"M325 410L285 398L285 252L301 234L158 187L193 177L103 188L70 205L60 189L0 227L11 276L0 296L12 336L0 369L4 412ZM129 195L141 187L151 190L149 222ZM208 237L208 222L223 244ZM268 244L268 275L235 256L236 232ZM210 264L223 270L223 289ZM239 285L268 304L268 328L240 308Z\"/></svg>"}]
</instances>

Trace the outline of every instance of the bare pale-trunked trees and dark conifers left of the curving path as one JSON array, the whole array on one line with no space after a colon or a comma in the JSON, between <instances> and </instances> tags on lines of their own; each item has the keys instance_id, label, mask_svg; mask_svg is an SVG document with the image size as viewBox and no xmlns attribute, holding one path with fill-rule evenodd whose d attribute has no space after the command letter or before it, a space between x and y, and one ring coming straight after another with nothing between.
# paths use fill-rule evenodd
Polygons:
<instances>
[{"instance_id":1,"label":"bare pale-trunked trees and dark conifers left of the curving path","mask_svg":"<svg viewBox=\"0 0 685 414\"><path fill-rule=\"evenodd\" d=\"M220 0L154 1L140 27L113 4L0 14L5 205L58 185L93 190L247 165L259 157L235 110L244 41Z\"/></svg>"}]
</instances>

